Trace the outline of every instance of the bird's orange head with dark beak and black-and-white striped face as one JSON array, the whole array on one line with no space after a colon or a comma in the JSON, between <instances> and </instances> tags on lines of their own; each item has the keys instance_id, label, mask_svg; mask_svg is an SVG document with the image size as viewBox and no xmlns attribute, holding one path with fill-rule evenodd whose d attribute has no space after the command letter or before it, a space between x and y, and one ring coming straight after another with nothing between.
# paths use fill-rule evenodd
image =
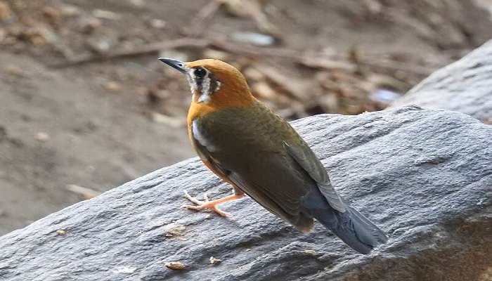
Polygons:
<instances>
[{"instance_id":1,"label":"bird's orange head with dark beak and black-and-white striped face","mask_svg":"<svg viewBox=\"0 0 492 281\"><path fill-rule=\"evenodd\" d=\"M205 59L184 63L171 58L159 58L186 75L193 94L193 103L211 107L234 107L254 103L246 79L241 72L221 60Z\"/></svg>"}]
</instances>

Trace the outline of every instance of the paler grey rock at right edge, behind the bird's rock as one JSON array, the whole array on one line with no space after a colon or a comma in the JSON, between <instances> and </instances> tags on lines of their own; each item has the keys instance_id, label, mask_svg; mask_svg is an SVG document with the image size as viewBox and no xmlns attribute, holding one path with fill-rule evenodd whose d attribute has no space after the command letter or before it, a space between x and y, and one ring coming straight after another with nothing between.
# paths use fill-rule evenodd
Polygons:
<instances>
[{"instance_id":1,"label":"paler grey rock at right edge, behind the bird's rock","mask_svg":"<svg viewBox=\"0 0 492 281\"><path fill-rule=\"evenodd\" d=\"M434 72L392 107L442 108L492 122L492 41Z\"/></svg>"}]
</instances>

